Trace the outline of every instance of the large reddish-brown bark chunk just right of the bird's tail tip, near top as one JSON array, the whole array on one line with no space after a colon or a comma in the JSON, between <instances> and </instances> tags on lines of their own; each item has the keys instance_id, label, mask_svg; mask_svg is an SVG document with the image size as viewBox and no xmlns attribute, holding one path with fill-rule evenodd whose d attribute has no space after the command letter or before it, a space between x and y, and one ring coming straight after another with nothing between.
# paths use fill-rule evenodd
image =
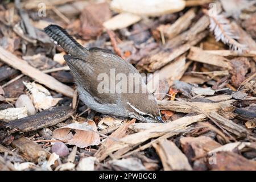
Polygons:
<instances>
[{"instance_id":1,"label":"large reddish-brown bark chunk just right of the bird's tail tip, near top","mask_svg":"<svg viewBox=\"0 0 256 182\"><path fill-rule=\"evenodd\" d=\"M85 6L80 15L80 35L84 39L91 39L100 36L103 31L102 23L111 18L108 3L92 3Z\"/></svg>"}]
</instances>

